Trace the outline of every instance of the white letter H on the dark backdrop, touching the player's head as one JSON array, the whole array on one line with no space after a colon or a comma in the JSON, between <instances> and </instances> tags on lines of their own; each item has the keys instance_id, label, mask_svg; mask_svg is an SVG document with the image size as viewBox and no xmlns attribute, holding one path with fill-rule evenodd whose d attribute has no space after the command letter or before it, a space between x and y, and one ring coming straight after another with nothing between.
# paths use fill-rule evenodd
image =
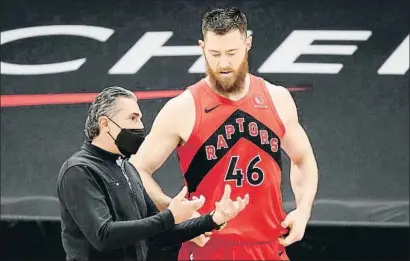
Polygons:
<instances>
[{"instance_id":1,"label":"white letter H on the dark backdrop, touching the player's head","mask_svg":"<svg viewBox=\"0 0 410 261\"><path fill-rule=\"evenodd\" d=\"M109 74L135 74L153 56L197 56L199 46L163 46L173 32L148 32L109 70Z\"/></svg>"}]
</instances>

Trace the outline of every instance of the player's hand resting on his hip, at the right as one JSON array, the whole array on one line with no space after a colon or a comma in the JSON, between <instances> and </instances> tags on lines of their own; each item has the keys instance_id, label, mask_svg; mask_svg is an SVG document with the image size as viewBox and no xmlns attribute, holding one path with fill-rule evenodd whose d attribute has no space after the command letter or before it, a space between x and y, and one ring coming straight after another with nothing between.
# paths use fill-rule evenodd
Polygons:
<instances>
[{"instance_id":1,"label":"player's hand resting on his hip, at the right","mask_svg":"<svg viewBox=\"0 0 410 261\"><path fill-rule=\"evenodd\" d=\"M279 244L289 246L297 241L302 240L305 235L310 213L302 209L291 211L281 223L283 228L289 228L290 232L286 238L279 238Z\"/></svg>"}]
</instances>

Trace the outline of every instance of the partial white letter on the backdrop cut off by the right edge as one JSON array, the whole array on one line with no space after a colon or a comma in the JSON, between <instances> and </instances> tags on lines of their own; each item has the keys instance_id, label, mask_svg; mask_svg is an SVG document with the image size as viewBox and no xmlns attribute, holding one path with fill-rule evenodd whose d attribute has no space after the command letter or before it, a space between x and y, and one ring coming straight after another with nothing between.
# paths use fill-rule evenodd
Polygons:
<instances>
[{"instance_id":1,"label":"partial white letter on the backdrop cut off by the right edge","mask_svg":"<svg viewBox=\"0 0 410 261\"><path fill-rule=\"evenodd\" d=\"M377 71L378 74L403 75L409 70L409 35Z\"/></svg>"}]
</instances>

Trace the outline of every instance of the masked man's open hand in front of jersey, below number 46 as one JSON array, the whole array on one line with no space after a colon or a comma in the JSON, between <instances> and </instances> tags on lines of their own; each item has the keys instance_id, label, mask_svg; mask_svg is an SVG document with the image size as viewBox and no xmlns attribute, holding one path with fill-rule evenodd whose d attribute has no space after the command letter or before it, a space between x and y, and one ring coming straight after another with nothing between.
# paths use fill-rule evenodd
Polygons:
<instances>
[{"instance_id":1,"label":"masked man's open hand in front of jersey, below number 46","mask_svg":"<svg viewBox=\"0 0 410 261\"><path fill-rule=\"evenodd\" d=\"M249 203L249 195L246 194L244 198L237 197L236 201L231 200L231 186L225 185L224 194L219 202L215 203L216 209L212 216L213 221L217 225L221 225L233 219L245 209Z\"/></svg>"}]
</instances>

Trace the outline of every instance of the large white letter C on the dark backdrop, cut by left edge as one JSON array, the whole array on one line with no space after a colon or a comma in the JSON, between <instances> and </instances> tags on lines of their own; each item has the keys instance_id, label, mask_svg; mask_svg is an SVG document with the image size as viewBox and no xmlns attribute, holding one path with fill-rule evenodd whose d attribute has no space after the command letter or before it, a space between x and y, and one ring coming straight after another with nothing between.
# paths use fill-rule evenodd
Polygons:
<instances>
[{"instance_id":1,"label":"large white letter C on the dark backdrop, cut by left edge","mask_svg":"<svg viewBox=\"0 0 410 261\"><path fill-rule=\"evenodd\" d=\"M20 28L1 33L1 45L17 40L39 36L74 35L91 38L105 42L114 30L98 26L87 25L50 25ZM78 70L86 61L86 58L61 63L49 63L38 65L22 65L1 62L1 74L9 75L38 75L71 72Z\"/></svg>"}]
</instances>

